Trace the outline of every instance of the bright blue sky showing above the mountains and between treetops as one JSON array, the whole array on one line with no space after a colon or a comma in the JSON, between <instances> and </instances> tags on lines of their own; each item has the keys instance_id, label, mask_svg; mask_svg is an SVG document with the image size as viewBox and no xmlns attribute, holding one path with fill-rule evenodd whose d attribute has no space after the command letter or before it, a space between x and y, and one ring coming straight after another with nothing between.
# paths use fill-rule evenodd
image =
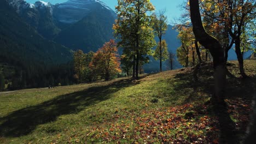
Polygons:
<instances>
[{"instance_id":1,"label":"bright blue sky showing above the mountains and between treetops","mask_svg":"<svg viewBox=\"0 0 256 144\"><path fill-rule=\"evenodd\" d=\"M34 3L38 0L25 0L29 3ZM63 3L67 0L41 0L44 2L50 2L52 4L56 3ZM117 5L117 0L101 0L102 2L106 3L110 8L115 10L115 5ZM168 22L173 22L175 18L178 18L182 11L178 7L182 4L183 1L181 0L151 0L150 2L155 5L156 10L159 9L166 9L166 16L168 17Z\"/></svg>"}]
</instances>

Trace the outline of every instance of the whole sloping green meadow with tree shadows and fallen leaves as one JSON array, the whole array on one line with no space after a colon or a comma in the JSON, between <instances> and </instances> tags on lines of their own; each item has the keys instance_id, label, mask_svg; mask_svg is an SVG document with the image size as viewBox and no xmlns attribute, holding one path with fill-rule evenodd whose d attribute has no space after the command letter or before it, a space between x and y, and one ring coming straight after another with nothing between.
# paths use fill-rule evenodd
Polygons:
<instances>
[{"instance_id":1,"label":"whole sloping green meadow with tree shadows and fallen leaves","mask_svg":"<svg viewBox=\"0 0 256 144\"><path fill-rule=\"evenodd\" d=\"M229 67L238 78L228 78L226 103L228 117L237 124L248 122L255 63L246 61L249 80L238 77L236 62ZM144 75L140 80L0 93L0 143L217 141L222 123L208 104L212 68L201 67L198 82L192 72L188 68ZM237 133L245 128L240 125Z\"/></svg>"}]
</instances>

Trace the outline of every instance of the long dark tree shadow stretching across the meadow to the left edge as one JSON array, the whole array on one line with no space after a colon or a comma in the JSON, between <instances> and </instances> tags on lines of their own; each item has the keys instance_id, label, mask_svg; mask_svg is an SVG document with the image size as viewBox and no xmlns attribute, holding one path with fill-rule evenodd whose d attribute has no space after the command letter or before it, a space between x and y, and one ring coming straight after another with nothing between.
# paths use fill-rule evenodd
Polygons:
<instances>
[{"instance_id":1,"label":"long dark tree shadow stretching across the meadow to the left edge","mask_svg":"<svg viewBox=\"0 0 256 144\"><path fill-rule=\"evenodd\" d=\"M77 113L90 105L107 100L121 88L137 85L133 79L119 80L106 86L60 95L39 105L14 111L0 119L0 136L19 137L30 134L39 124L56 121L61 115ZM81 106L83 108L81 108Z\"/></svg>"}]
</instances>

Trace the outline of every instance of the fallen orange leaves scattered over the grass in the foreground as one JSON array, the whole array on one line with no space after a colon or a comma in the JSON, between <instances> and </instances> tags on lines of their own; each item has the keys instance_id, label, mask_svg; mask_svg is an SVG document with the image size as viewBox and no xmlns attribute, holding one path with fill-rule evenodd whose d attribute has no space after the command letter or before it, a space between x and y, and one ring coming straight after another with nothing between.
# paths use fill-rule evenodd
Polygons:
<instances>
[{"instance_id":1,"label":"fallen orange leaves scattered over the grass in the foreground","mask_svg":"<svg viewBox=\"0 0 256 144\"><path fill-rule=\"evenodd\" d=\"M91 138L110 143L217 143L217 120L196 112L197 118L185 119L184 113L191 109L194 109L192 105L182 105L113 115L113 122L96 129L98 132Z\"/></svg>"}]
</instances>

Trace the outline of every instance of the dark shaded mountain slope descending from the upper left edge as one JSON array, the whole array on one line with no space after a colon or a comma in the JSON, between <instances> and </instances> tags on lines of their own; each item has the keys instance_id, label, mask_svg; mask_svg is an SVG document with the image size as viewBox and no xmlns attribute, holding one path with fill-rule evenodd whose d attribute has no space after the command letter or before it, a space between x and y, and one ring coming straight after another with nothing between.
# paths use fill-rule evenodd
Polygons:
<instances>
[{"instance_id":1,"label":"dark shaded mountain slope descending from the upper left edge","mask_svg":"<svg viewBox=\"0 0 256 144\"><path fill-rule=\"evenodd\" d=\"M72 53L67 47L44 39L6 1L1 1L0 8L1 56L11 56L12 53L42 63L66 63L72 59Z\"/></svg>"}]
</instances>

